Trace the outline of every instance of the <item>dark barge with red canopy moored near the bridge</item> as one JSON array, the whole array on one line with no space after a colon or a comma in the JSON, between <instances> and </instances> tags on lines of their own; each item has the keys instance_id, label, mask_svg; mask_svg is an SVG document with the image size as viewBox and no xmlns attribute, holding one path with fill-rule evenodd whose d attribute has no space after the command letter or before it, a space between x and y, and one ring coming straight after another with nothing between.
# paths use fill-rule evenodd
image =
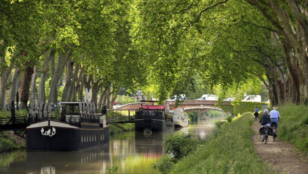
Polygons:
<instances>
[{"instance_id":1,"label":"dark barge with red canopy moored near the bridge","mask_svg":"<svg viewBox=\"0 0 308 174\"><path fill-rule=\"evenodd\" d=\"M136 132L162 132L174 129L173 117L165 113L164 105L142 105L135 114Z\"/></svg>"}]
</instances>

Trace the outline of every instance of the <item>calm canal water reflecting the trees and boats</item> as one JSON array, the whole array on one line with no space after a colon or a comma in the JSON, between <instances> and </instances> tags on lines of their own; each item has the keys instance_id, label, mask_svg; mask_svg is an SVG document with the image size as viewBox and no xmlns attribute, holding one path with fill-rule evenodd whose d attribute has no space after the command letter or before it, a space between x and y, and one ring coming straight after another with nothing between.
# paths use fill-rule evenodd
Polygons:
<instances>
[{"instance_id":1,"label":"calm canal water reflecting the trees and boats","mask_svg":"<svg viewBox=\"0 0 308 174\"><path fill-rule=\"evenodd\" d=\"M176 131L204 139L215 120L221 118L200 120ZM110 173L115 166L115 173L158 173L151 164L163 156L163 136L168 133L121 133L111 136L105 147L79 151L4 153L0 154L0 173Z\"/></svg>"}]
</instances>

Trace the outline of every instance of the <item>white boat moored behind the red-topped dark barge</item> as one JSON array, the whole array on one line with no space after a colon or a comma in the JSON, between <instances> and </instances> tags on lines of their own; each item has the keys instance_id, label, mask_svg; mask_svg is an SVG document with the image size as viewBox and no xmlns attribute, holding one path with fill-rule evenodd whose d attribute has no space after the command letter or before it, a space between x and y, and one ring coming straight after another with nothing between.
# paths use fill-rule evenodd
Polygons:
<instances>
[{"instance_id":1,"label":"white boat moored behind the red-topped dark barge","mask_svg":"<svg viewBox=\"0 0 308 174\"><path fill-rule=\"evenodd\" d=\"M173 117L173 124L175 129L179 129L182 127L188 126L188 119L186 118L186 114L181 109L175 110L166 110L167 115Z\"/></svg>"}]
</instances>

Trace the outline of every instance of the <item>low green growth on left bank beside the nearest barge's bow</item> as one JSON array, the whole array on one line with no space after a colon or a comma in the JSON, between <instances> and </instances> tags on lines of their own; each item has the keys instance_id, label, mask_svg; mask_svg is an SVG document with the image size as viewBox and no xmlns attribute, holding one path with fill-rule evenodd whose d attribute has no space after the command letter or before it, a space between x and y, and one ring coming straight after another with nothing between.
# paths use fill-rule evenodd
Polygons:
<instances>
[{"instance_id":1,"label":"low green growth on left bank beside the nearest barge's bow","mask_svg":"<svg viewBox=\"0 0 308 174\"><path fill-rule=\"evenodd\" d=\"M8 132L0 132L0 152L25 148L24 142L17 142Z\"/></svg>"}]
</instances>

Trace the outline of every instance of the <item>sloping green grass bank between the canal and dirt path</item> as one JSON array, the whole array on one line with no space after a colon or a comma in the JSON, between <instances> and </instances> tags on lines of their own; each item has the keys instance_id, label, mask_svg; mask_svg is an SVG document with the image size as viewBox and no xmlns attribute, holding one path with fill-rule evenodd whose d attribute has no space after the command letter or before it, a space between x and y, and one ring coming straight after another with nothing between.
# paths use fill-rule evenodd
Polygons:
<instances>
[{"instance_id":1,"label":"sloping green grass bank between the canal and dirt path","mask_svg":"<svg viewBox=\"0 0 308 174\"><path fill-rule=\"evenodd\" d=\"M246 113L215 129L194 152L180 159L170 173L268 173L270 165L253 148L252 119Z\"/></svg>"}]
</instances>

